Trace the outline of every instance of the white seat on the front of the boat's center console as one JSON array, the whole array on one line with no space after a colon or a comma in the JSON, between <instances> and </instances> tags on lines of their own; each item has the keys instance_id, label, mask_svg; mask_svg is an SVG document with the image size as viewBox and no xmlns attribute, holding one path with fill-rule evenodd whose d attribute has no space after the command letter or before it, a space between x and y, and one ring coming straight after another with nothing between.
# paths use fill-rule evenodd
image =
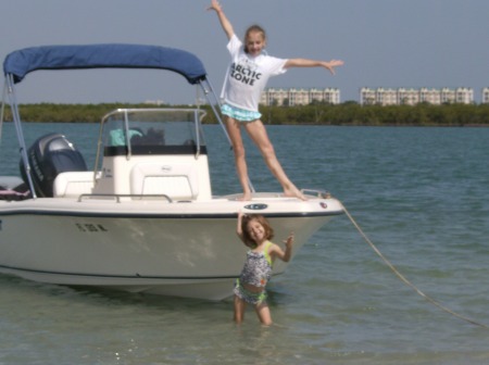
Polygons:
<instances>
[{"instance_id":1,"label":"white seat on the front of the boat's center console","mask_svg":"<svg viewBox=\"0 0 489 365\"><path fill-rule=\"evenodd\" d=\"M130 193L193 200L199 194L197 172L190 164L138 163L130 172Z\"/></svg>"}]
</instances>

